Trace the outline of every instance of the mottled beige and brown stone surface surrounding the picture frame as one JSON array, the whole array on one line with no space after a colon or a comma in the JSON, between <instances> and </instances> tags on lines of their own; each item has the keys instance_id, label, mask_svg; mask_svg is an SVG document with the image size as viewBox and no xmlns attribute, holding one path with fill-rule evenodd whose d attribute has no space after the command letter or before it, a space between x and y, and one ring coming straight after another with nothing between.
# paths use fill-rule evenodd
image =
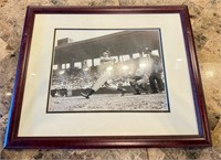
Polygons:
<instances>
[{"instance_id":1,"label":"mottled beige and brown stone surface surrounding the picture frame","mask_svg":"<svg viewBox=\"0 0 221 160\"><path fill-rule=\"evenodd\" d=\"M2 149L27 6L187 4L197 46L213 146L104 150ZM0 0L1 159L221 159L221 0Z\"/></svg>"}]
</instances>

